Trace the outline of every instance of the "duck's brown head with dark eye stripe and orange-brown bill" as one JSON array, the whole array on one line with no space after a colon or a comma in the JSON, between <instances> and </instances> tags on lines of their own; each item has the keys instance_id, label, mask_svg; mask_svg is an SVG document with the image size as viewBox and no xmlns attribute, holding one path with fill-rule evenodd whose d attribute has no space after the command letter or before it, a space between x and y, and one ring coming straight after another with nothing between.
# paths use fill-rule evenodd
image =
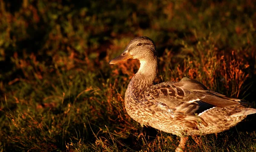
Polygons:
<instances>
[{"instance_id":1,"label":"duck's brown head with dark eye stripe and orange-brown bill","mask_svg":"<svg viewBox=\"0 0 256 152\"><path fill-rule=\"evenodd\" d=\"M112 65L127 59L148 61L150 59L157 59L156 54L156 45L152 39L148 37L135 37L125 48L125 51L108 63Z\"/></svg>"}]
</instances>

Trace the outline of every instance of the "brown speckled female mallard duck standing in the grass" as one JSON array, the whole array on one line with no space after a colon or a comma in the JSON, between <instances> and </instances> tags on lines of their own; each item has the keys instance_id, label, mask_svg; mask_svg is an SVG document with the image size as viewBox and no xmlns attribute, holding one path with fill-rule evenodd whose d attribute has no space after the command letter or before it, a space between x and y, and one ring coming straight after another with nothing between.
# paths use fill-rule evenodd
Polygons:
<instances>
[{"instance_id":1,"label":"brown speckled female mallard duck standing in the grass","mask_svg":"<svg viewBox=\"0 0 256 152\"><path fill-rule=\"evenodd\" d=\"M154 85L156 54L156 46L150 38L136 37L109 64L140 60L140 69L125 92L125 109L141 126L180 136L176 152L182 151L188 135L222 132L256 113L256 109L244 106L243 101L208 90L188 78Z\"/></svg>"}]
</instances>

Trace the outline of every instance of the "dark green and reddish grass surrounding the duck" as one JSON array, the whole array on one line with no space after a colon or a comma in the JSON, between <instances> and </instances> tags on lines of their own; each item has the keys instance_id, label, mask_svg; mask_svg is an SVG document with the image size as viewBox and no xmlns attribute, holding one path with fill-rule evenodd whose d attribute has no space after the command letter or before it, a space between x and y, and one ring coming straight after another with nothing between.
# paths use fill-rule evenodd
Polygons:
<instances>
[{"instance_id":1,"label":"dark green and reddish grass surrounding the duck","mask_svg":"<svg viewBox=\"0 0 256 152\"><path fill-rule=\"evenodd\" d=\"M0 0L0 151L174 151L177 136L125 111L139 62L108 65L136 36L157 45L156 83L186 76L256 107L255 6ZM254 120L189 138L185 151L256 151Z\"/></svg>"}]
</instances>

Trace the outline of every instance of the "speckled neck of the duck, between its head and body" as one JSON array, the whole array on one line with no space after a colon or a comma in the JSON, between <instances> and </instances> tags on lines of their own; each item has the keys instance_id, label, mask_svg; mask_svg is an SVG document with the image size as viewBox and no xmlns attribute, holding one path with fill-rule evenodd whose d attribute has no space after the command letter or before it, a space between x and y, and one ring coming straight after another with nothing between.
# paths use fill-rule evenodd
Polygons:
<instances>
[{"instance_id":1,"label":"speckled neck of the duck, between its head and body","mask_svg":"<svg viewBox=\"0 0 256 152\"><path fill-rule=\"evenodd\" d=\"M157 58L140 60L140 69L133 76L125 93L125 100L140 98L140 94L153 85L157 74Z\"/></svg>"}]
</instances>

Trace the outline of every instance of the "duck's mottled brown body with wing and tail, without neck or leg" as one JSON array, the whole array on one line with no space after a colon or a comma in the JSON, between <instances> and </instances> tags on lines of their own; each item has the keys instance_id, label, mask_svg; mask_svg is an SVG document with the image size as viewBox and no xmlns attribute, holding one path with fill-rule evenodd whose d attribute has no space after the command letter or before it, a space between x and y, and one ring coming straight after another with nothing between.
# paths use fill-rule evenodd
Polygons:
<instances>
[{"instance_id":1,"label":"duck's mottled brown body with wing and tail, without neck or leg","mask_svg":"<svg viewBox=\"0 0 256 152\"><path fill-rule=\"evenodd\" d=\"M256 113L243 104L183 78L149 87L126 110L142 125L176 135L204 135L229 129L246 115Z\"/></svg>"}]
</instances>

